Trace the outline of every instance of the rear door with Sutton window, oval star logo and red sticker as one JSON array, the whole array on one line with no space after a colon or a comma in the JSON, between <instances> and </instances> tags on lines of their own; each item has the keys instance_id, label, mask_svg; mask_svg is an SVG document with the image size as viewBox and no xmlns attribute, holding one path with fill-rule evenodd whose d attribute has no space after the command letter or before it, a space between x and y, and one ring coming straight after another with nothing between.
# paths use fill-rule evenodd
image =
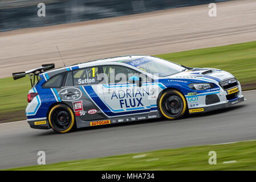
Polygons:
<instances>
[{"instance_id":1,"label":"rear door with Sutton window, oval star logo and red sticker","mask_svg":"<svg viewBox=\"0 0 256 182\"><path fill-rule=\"evenodd\" d=\"M59 96L62 102L74 110L76 121L105 118L105 115L94 103L94 98L97 96L86 91L99 83L98 74L99 67L83 68L67 73Z\"/></svg>"}]
</instances>

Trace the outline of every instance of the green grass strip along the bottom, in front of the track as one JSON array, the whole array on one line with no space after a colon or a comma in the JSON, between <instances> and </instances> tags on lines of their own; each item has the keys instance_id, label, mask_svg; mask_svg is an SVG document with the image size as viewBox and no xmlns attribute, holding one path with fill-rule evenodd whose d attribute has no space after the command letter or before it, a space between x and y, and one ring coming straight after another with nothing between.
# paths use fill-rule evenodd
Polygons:
<instances>
[{"instance_id":1,"label":"green grass strip along the bottom, in front of the track","mask_svg":"<svg viewBox=\"0 0 256 182\"><path fill-rule=\"evenodd\" d=\"M216 146L197 146L149 151L138 154L75 160L8 170L256 170L255 148L256 141L250 141ZM209 151L216 151L217 164L210 165L208 163L210 158L208 155ZM133 158L133 156L137 155L145 156ZM237 162L223 164L223 162L231 160L236 160Z\"/></svg>"}]
</instances>

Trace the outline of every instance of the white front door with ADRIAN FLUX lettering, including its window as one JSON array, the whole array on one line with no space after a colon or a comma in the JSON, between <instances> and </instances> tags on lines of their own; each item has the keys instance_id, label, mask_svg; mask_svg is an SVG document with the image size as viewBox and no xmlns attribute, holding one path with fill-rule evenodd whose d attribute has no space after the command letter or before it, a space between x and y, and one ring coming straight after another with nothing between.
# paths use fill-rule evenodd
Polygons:
<instances>
[{"instance_id":1,"label":"white front door with ADRIAN FLUX lettering, including its window","mask_svg":"<svg viewBox=\"0 0 256 182\"><path fill-rule=\"evenodd\" d=\"M107 106L106 114L111 117L148 114L151 109L149 86L128 82L129 77L140 73L121 65L103 66L106 83L103 84L103 102Z\"/></svg>"}]
</instances>

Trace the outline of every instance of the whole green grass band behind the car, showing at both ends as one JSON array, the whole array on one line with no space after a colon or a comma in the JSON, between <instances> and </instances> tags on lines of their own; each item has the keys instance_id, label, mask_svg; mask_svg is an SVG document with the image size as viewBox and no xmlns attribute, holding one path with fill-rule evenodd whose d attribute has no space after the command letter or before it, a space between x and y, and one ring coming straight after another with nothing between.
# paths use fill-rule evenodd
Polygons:
<instances>
[{"instance_id":1,"label":"whole green grass band behind the car, showing at both ends","mask_svg":"<svg viewBox=\"0 0 256 182\"><path fill-rule=\"evenodd\" d=\"M256 42L156 56L188 67L223 69L238 78L243 90L256 88ZM0 85L0 123L25 119L29 78L2 78Z\"/></svg>"}]
</instances>

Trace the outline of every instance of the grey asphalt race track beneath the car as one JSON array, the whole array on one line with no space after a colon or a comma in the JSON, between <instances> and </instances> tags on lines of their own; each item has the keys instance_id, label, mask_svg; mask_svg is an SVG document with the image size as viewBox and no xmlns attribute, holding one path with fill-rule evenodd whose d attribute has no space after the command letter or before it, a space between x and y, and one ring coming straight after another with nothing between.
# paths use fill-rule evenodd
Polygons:
<instances>
[{"instance_id":1,"label":"grey asphalt race track beneath the car","mask_svg":"<svg viewBox=\"0 0 256 182\"><path fill-rule=\"evenodd\" d=\"M164 148L178 148L256 139L256 90L226 109L177 121L155 119L57 134L30 129L26 121L0 125L0 169L37 165L37 152L46 164Z\"/></svg>"}]
</instances>

